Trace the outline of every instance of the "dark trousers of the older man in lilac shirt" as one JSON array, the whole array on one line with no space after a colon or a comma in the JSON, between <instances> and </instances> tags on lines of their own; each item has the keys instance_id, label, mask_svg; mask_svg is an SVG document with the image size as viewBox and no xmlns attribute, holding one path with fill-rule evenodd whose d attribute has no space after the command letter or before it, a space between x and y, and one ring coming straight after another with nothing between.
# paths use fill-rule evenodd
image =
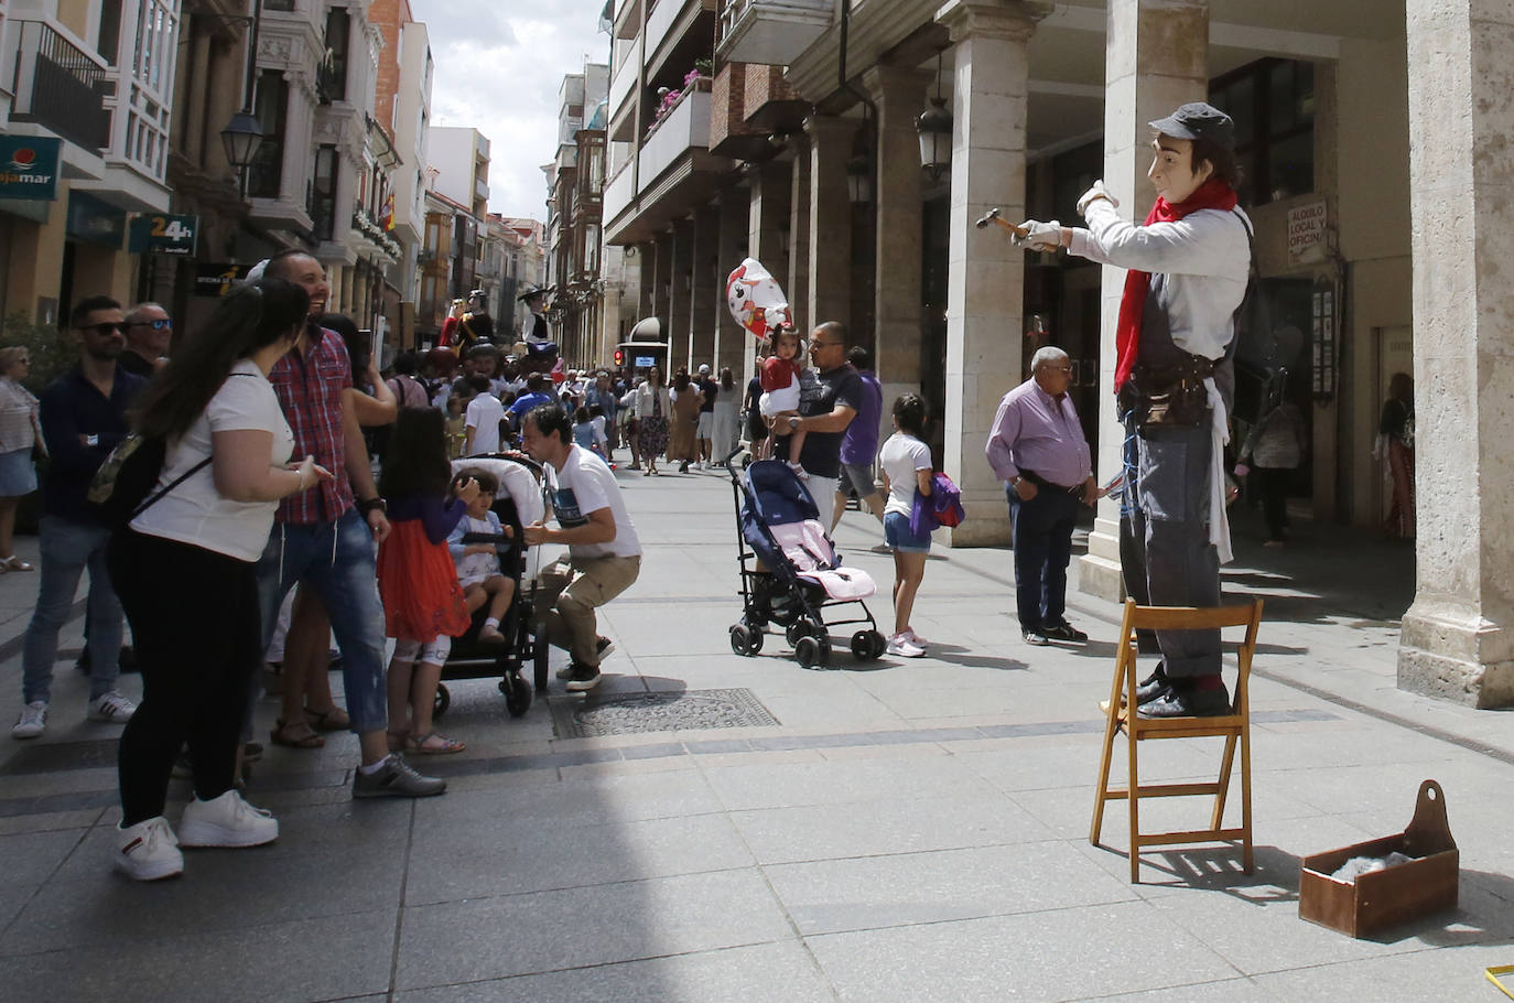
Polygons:
<instances>
[{"instance_id":1,"label":"dark trousers of the older man in lilac shirt","mask_svg":"<svg viewBox=\"0 0 1514 1003\"><path fill-rule=\"evenodd\" d=\"M1010 524L1014 545L1014 600L1020 630L1042 630L1063 623L1067 611L1067 564L1078 502L1055 486L1039 486L1022 502L1010 486Z\"/></svg>"}]
</instances>

